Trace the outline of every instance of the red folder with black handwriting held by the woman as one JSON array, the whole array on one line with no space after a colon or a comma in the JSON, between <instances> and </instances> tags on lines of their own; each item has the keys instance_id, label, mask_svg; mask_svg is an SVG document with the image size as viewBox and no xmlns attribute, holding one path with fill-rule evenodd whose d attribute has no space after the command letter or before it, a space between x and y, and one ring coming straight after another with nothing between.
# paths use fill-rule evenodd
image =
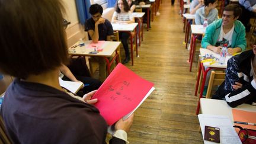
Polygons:
<instances>
[{"instance_id":1,"label":"red folder with black handwriting held by the woman","mask_svg":"<svg viewBox=\"0 0 256 144\"><path fill-rule=\"evenodd\" d=\"M122 117L127 119L153 89L152 82L119 63L93 96L98 98L94 105L110 126Z\"/></svg>"}]
</instances>

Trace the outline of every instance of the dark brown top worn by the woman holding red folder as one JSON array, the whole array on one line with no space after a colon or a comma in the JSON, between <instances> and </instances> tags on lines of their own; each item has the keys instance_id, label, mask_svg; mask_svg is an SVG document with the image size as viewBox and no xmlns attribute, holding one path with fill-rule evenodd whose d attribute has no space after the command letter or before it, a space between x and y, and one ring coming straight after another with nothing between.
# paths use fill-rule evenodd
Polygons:
<instances>
[{"instance_id":1,"label":"dark brown top worn by the woman holding red folder","mask_svg":"<svg viewBox=\"0 0 256 144\"><path fill-rule=\"evenodd\" d=\"M107 124L93 105L43 84L15 79L1 116L13 143L105 143ZM125 143L114 137L110 143Z\"/></svg>"}]
</instances>

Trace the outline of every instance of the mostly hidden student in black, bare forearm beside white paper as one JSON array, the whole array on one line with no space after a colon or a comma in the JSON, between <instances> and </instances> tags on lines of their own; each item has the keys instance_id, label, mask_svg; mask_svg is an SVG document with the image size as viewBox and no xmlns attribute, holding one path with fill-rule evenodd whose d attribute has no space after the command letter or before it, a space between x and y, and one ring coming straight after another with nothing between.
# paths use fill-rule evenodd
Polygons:
<instances>
[{"instance_id":1,"label":"mostly hidden student in black, bare forearm beside white paper","mask_svg":"<svg viewBox=\"0 0 256 144\"><path fill-rule=\"evenodd\" d=\"M86 76L74 76L73 73L69 70L69 68L65 65L60 66L60 78L62 78L64 81L73 81L73 82L82 82L85 87L82 88L82 92L78 92L77 95L80 97L83 97L84 94L87 94L88 92L94 91L101 86L101 82L97 79L89 78ZM78 80L79 79L79 80Z\"/></svg>"}]
</instances>

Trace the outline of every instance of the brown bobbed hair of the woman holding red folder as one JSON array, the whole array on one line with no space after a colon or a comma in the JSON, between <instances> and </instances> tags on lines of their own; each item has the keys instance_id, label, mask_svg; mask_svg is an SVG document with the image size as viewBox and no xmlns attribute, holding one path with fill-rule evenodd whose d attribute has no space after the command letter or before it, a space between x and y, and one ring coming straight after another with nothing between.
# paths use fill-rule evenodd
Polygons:
<instances>
[{"instance_id":1,"label":"brown bobbed hair of the woman holding red folder","mask_svg":"<svg viewBox=\"0 0 256 144\"><path fill-rule=\"evenodd\" d=\"M18 78L68 62L60 0L0 0L0 72Z\"/></svg>"}]
</instances>

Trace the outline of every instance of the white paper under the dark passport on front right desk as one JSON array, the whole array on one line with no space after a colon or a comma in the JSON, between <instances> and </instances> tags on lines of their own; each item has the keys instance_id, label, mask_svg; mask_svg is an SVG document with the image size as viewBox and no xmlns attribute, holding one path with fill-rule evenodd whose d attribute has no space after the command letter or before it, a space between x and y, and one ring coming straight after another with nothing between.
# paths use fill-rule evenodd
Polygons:
<instances>
[{"instance_id":1,"label":"white paper under the dark passport on front right desk","mask_svg":"<svg viewBox=\"0 0 256 144\"><path fill-rule=\"evenodd\" d=\"M212 114L199 114L201 132L204 139L204 126L220 128L220 143L242 143L228 116L217 116ZM204 143L214 143L204 140Z\"/></svg>"}]
</instances>

